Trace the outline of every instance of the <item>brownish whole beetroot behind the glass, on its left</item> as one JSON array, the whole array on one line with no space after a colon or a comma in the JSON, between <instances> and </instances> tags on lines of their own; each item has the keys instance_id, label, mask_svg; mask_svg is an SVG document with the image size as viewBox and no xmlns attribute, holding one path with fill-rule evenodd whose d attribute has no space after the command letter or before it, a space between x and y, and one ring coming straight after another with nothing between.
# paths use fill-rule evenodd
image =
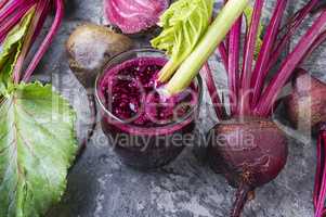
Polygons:
<instances>
[{"instance_id":1,"label":"brownish whole beetroot behind the glass, on its left","mask_svg":"<svg viewBox=\"0 0 326 217\"><path fill-rule=\"evenodd\" d=\"M86 23L66 42L69 66L86 88L94 86L96 75L115 55L132 48L132 40L105 26Z\"/></svg>"}]
</instances>

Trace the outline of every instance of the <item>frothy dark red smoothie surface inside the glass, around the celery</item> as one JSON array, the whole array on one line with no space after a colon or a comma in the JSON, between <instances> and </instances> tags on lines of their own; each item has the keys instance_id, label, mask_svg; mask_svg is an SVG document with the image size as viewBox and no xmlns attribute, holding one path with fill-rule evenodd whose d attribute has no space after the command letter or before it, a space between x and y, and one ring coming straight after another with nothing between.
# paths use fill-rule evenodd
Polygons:
<instances>
[{"instance_id":1,"label":"frothy dark red smoothie surface inside the glass, around the celery","mask_svg":"<svg viewBox=\"0 0 326 217\"><path fill-rule=\"evenodd\" d=\"M110 69L101 89L113 115L136 126L155 127L187 114L196 90L191 87L173 97L160 93L162 85L155 78L165 63L165 59L142 58Z\"/></svg>"}]
</instances>

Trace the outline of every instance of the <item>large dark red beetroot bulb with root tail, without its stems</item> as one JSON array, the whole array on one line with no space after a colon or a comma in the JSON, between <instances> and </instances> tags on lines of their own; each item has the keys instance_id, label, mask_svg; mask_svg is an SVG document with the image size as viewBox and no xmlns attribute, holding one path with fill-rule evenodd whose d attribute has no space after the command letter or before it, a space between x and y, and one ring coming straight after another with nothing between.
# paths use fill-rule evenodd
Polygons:
<instances>
[{"instance_id":1,"label":"large dark red beetroot bulb with root tail, without its stems","mask_svg":"<svg viewBox=\"0 0 326 217\"><path fill-rule=\"evenodd\" d=\"M232 119L209 132L209 163L238 188L231 216L240 216L249 192L277 177L287 159L287 138L265 118Z\"/></svg>"}]
</instances>

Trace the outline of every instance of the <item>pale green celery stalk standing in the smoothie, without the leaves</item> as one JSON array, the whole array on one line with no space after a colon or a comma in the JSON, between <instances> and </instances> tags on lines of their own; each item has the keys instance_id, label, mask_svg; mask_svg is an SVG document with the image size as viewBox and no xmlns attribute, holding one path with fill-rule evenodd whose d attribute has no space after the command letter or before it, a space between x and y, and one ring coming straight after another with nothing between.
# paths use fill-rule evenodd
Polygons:
<instances>
[{"instance_id":1,"label":"pale green celery stalk standing in the smoothie, without the leaves","mask_svg":"<svg viewBox=\"0 0 326 217\"><path fill-rule=\"evenodd\" d=\"M169 94L177 94L187 88L194 77L216 48L222 42L236 20L242 15L249 0L229 0L218 17L208 28L205 36L192 54L181 64L177 73L167 84Z\"/></svg>"}]
</instances>

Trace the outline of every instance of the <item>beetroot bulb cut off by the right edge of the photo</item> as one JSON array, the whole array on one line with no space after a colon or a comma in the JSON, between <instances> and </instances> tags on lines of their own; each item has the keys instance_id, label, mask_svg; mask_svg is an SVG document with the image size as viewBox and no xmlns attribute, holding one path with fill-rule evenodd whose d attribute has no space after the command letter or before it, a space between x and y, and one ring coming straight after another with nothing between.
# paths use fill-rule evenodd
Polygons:
<instances>
[{"instance_id":1,"label":"beetroot bulb cut off by the right edge of the photo","mask_svg":"<svg viewBox=\"0 0 326 217\"><path fill-rule=\"evenodd\" d=\"M298 69L292 81L294 92L285 100L288 118L301 131L313 129L326 120L326 85Z\"/></svg>"}]
</instances>

